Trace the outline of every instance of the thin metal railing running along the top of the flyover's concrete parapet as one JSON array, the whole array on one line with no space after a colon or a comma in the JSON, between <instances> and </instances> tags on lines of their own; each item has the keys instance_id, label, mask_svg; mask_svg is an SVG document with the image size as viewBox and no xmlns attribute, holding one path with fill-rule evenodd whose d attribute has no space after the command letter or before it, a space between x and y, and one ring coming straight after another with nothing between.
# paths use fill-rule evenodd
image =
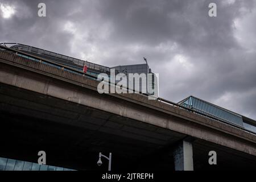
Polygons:
<instances>
[{"instance_id":1,"label":"thin metal railing running along the top of the flyover's concrete parapet","mask_svg":"<svg viewBox=\"0 0 256 182\"><path fill-rule=\"evenodd\" d=\"M13 45L14 43L9 43L9 45L10 45L10 44ZM6 46L6 45L7 45L7 43L2 43L2 44L0 44L0 51L1 51L1 50L5 50L5 51L7 51L7 52L13 52L13 53L15 53L15 54L19 53L19 54L24 55L24 56L32 57L33 59L36 59L36 60L40 60L41 63L53 65L53 66L55 66L55 67L57 67L57 68L64 69L65 71L69 71L69 72L72 72L72 73L76 73L76 74L79 74L79 75L86 76L86 77L91 78L91 79L93 79L93 80L97 80L97 76L93 76L93 75L90 75L90 74L88 74L88 73L84 73L84 72L82 72L82 71L79 71L78 69L74 69L74 68L69 67L69 66L67 66L67 65L55 63L55 62L50 61L50 60L48 60L48 59L42 59L42 57L35 56L35 55L31 55L30 53L27 53L27 52L24 52L24 51L20 51L20 50L18 50L18 49L13 49L13 48L11 48L12 46L10 47L10 46ZM93 64L93 63L92 63L92 64ZM114 83L114 84L116 85L116 83ZM129 89L129 88L127 88L127 89ZM146 94L146 93L139 93L139 94L141 94L142 96L145 96L145 97L151 96L151 95ZM151 97L152 97L152 96L151 96ZM252 132L252 131L250 131L250 130L247 130L247 129L243 128L243 127L236 126L236 125L232 125L232 124L230 124L230 123L226 123L226 122L222 121L221 119L217 119L217 118L212 117L212 116L210 116L210 115L207 115L207 114L204 114L204 113L200 113L200 111L196 111L196 110L190 109L190 108L188 108L188 107L185 107L185 106L183 106L183 105L176 104L175 102L168 101L168 100L166 100L166 99L164 99L164 98L158 97L158 98L156 98L156 100L158 100L159 102L163 102L164 104L168 104L168 105L174 106L174 107L176 107L176 108L183 109L183 110L189 111L189 112L191 112L191 113L195 113L195 114L197 114L197 115L201 115L201 116L203 116L203 117L212 119L212 120L214 120L214 121L224 123L225 125L234 127L234 128L236 128L236 129L239 129L239 130L243 130L243 131L245 131L246 133L250 133L250 134L254 134L254 135L256 134L256 133L254 133L254 132Z\"/></svg>"}]
</instances>

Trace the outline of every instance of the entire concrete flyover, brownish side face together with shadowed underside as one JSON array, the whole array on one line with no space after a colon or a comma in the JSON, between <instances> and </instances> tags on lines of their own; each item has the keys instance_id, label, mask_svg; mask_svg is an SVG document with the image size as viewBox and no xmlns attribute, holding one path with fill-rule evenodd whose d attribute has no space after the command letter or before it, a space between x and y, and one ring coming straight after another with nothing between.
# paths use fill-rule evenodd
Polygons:
<instances>
[{"instance_id":1,"label":"entire concrete flyover, brownish side face together with shadowed underside","mask_svg":"<svg viewBox=\"0 0 256 182\"><path fill-rule=\"evenodd\" d=\"M97 84L0 51L0 126L12 136L1 138L0 155L35 161L47 148L49 163L76 169L99 169L100 151L113 153L113 169L255 169L256 135L141 94L99 94Z\"/></svg>"}]
</instances>

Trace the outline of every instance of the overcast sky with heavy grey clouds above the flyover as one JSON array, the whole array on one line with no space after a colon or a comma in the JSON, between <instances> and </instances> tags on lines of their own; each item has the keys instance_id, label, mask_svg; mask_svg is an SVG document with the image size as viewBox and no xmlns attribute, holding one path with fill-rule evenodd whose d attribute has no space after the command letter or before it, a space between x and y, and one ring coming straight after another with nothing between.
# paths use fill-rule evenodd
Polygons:
<instances>
[{"instance_id":1,"label":"overcast sky with heavy grey clouds above the flyover","mask_svg":"<svg viewBox=\"0 0 256 182\"><path fill-rule=\"evenodd\" d=\"M46 3L46 17L38 3ZM209 17L209 3L217 17ZM108 67L144 63L160 97L188 96L256 119L256 0L0 0L0 42Z\"/></svg>"}]
</instances>

